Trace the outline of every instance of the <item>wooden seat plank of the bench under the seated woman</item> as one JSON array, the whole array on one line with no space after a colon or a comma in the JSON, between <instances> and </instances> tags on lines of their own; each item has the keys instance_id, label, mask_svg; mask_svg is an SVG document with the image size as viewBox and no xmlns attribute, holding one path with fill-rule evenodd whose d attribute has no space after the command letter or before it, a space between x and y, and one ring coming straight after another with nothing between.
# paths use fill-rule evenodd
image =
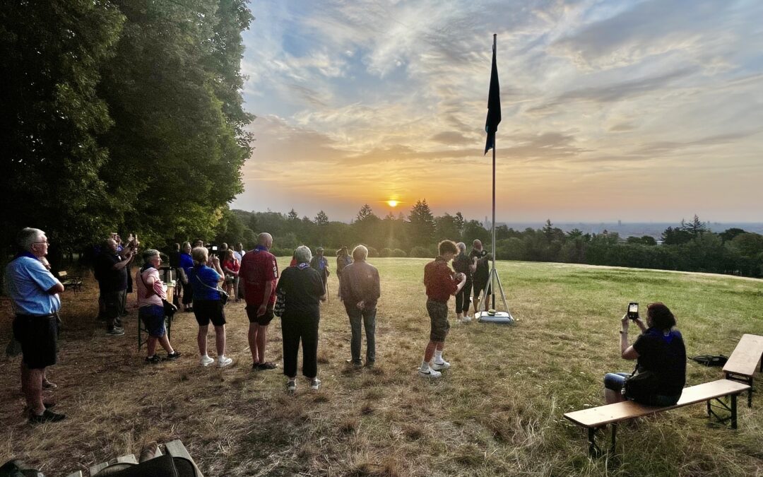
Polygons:
<instances>
[{"instance_id":1,"label":"wooden seat plank of the bench under the seated woman","mask_svg":"<svg viewBox=\"0 0 763 477\"><path fill-rule=\"evenodd\" d=\"M613 422L626 421L634 417L682 408L689 404L697 404L698 402L720 398L725 395L739 394L749 388L749 385L742 384L741 382L719 379L684 388L684 392L681 393L681 399L673 406L652 407L634 401L624 401L598 406L597 408L568 412L565 414L565 417L583 427L601 427Z\"/></svg>"}]
</instances>

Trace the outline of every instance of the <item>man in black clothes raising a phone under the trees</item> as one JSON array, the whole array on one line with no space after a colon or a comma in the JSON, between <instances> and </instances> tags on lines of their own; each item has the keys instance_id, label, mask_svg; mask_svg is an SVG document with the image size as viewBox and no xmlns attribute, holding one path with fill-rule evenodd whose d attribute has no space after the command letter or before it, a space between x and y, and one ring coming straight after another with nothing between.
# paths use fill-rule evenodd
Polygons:
<instances>
[{"instance_id":1,"label":"man in black clothes raising a phone under the trees","mask_svg":"<svg viewBox=\"0 0 763 477\"><path fill-rule=\"evenodd\" d=\"M106 239L103 250L95 259L95 279L98 280L98 288L101 291L106 334L111 336L124 334L119 317L127 293L127 266L135 256L135 250L130 250L123 258L117 252L117 247L116 240Z\"/></svg>"}]
</instances>

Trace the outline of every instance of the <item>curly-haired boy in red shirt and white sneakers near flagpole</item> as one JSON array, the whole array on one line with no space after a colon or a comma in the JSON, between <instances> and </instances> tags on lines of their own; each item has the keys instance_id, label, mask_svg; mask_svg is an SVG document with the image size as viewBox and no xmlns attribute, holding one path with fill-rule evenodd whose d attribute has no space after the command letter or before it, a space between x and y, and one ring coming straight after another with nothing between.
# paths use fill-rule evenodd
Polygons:
<instances>
[{"instance_id":1,"label":"curly-haired boy in red shirt and white sneakers near flagpole","mask_svg":"<svg viewBox=\"0 0 763 477\"><path fill-rule=\"evenodd\" d=\"M427 287L427 312L430 315L430 341L424 350L424 360L419 375L425 378L439 378L440 370L448 369L450 363L443 359L443 346L448 336L448 299L456 295L466 283L466 277L454 275L448 262L459 252L456 243L443 240L437 244L439 256L424 266L424 285ZM456 282L458 280L458 282ZM434 363L430 366L434 356Z\"/></svg>"}]
</instances>

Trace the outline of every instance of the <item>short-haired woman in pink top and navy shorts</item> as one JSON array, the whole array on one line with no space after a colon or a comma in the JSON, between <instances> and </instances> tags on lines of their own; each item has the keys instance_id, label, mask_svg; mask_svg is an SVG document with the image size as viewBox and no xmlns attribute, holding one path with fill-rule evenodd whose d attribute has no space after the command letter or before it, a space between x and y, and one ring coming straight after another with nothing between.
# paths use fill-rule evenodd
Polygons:
<instances>
[{"instance_id":1,"label":"short-haired woman in pink top and navy shorts","mask_svg":"<svg viewBox=\"0 0 763 477\"><path fill-rule=\"evenodd\" d=\"M180 353L172 349L167 337L164 318L163 299L167 299L167 291L159 279L159 266L162 257L159 250L148 249L143 252L143 266L135 272L135 288L138 300L138 319L148 330L146 342L146 363L160 363L162 359L156 356L156 343L162 345L167 352L167 359L178 359Z\"/></svg>"}]
</instances>

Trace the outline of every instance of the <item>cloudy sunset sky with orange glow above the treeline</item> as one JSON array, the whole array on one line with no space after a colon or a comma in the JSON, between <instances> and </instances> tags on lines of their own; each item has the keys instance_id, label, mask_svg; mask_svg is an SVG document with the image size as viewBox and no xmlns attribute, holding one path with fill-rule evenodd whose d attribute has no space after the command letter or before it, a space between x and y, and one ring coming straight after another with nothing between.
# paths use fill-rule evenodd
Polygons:
<instances>
[{"instance_id":1,"label":"cloudy sunset sky with orange glow above the treeline","mask_svg":"<svg viewBox=\"0 0 763 477\"><path fill-rule=\"evenodd\" d=\"M253 1L232 208L763 221L760 0ZM392 208L386 201L400 203Z\"/></svg>"}]
</instances>

